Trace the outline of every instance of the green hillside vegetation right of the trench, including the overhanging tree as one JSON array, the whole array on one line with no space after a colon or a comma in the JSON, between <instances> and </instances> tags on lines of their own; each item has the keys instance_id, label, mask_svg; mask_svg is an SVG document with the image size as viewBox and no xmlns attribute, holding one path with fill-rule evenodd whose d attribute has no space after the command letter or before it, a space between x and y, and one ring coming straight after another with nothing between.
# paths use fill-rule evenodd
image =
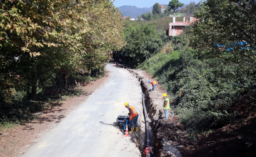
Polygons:
<instances>
[{"instance_id":1,"label":"green hillside vegetation right of the trench, including the overhanging tree","mask_svg":"<svg viewBox=\"0 0 256 157\"><path fill-rule=\"evenodd\" d=\"M241 133L241 149L253 150L256 3L207 0L197 7L197 20L181 36L167 37L163 33L172 22L170 17L132 22L137 27L153 26L164 43L159 45L161 51L149 53L136 68L154 76L174 99L172 109L188 131L188 140L236 124L248 128L247 133Z\"/></svg>"}]
</instances>

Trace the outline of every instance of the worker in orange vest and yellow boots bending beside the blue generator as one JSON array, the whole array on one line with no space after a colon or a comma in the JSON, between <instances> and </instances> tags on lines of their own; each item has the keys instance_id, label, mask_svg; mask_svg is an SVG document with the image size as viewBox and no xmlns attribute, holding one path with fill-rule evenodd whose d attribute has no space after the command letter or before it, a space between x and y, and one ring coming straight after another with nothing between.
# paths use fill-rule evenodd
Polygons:
<instances>
[{"instance_id":1,"label":"worker in orange vest and yellow boots bending beside the blue generator","mask_svg":"<svg viewBox=\"0 0 256 157\"><path fill-rule=\"evenodd\" d=\"M130 120L132 120L131 131L129 131L129 133L133 133L134 124L135 124L135 132L138 132L138 122L137 121L138 121L139 114L137 113L135 108L133 108L133 106L129 105L128 102L124 103L124 107L128 108L128 110L129 110L128 115L130 116Z\"/></svg>"}]
</instances>

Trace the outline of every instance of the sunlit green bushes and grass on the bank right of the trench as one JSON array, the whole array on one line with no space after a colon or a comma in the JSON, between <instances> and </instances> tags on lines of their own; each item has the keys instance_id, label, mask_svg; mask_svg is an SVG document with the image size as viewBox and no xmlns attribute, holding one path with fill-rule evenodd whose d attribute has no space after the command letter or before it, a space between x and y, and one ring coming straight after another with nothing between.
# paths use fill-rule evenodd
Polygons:
<instances>
[{"instance_id":1,"label":"sunlit green bushes and grass on the bank right of the trench","mask_svg":"<svg viewBox=\"0 0 256 157\"><path fill-rule=\"evenodd\" d=\"M230 105L244 94L245 82L227 78L232 71L221 64L220 58L201 60L194 50L184 47L173 53L159 53L150 60L157 57L159 61L151 62L151 66L146 60L138 68L153 75L168 91L168 97L174 99L172 108L190 133L234 120L237 113L229 110Z\"/></svg>"}]
</instances>

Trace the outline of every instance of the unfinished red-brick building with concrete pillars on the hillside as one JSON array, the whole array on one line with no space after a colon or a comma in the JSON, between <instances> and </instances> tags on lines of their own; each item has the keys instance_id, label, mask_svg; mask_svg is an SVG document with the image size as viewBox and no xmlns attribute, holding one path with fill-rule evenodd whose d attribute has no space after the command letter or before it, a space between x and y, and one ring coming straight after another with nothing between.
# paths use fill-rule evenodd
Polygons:
<instances>
[{"instance_id":1,"label":"unfinished red-brick building with concrete pillars on the hillside","mask_svg":"<svg viewBox=\"0 0 256 157\"><path fill-rule=\"evenodd\" d=\"M181 35L181 33L183 32L183 29L187 26L190 26L194 20L193 17L190 17L190 20L188 21L184 17L183 22L176 22L175 18L176 17L173 17L172 22L169 23L169 36Z\"/></svg>"}]
</instances>

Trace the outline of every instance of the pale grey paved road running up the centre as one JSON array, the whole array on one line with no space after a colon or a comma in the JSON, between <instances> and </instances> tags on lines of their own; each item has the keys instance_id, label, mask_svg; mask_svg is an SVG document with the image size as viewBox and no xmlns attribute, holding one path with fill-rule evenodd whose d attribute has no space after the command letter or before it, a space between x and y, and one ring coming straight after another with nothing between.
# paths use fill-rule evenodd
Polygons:
<instances>
[{"instance_id":1,"label":"pale grey paved road running up the centre","mask_svg":"<svg viewBox=\"0 0 256 157\"><path fill-rule=\"evenodd\" d=\"M141 157L131 138L114 127L118 115L128 114L124 102L142 113L139 83L126 69L113 64L106 69L110 76L104 86L22 157Z\"/></svg>"}]
</instances>

